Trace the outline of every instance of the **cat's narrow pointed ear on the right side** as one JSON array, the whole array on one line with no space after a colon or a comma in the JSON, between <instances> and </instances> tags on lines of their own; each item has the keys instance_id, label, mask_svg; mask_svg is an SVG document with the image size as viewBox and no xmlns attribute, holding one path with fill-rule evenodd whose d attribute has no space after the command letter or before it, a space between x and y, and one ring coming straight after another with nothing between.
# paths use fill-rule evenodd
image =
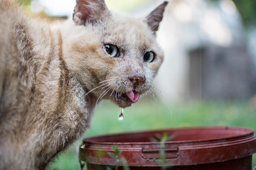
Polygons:
<instances>
[{"instance_id":1,"label":"cat's narrow pointed ear on the right side","mask_svg":"<svg viewBox=\"0 0 256 170\"><path fill-rule=\"evenodd\" d=\"M164 8L167 5L167 1L164 1L161 5L155 8L147 17L146 22L148 26L151 28L151 31L158 31L159 23L163 19Z\"/></svg>"}]
</instances>

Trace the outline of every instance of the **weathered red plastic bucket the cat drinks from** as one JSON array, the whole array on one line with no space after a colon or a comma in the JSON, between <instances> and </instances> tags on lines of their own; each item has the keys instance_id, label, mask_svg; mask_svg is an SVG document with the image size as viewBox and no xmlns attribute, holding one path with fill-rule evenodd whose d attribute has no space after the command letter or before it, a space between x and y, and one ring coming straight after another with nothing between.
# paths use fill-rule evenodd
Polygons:
<instances>
[{"instance_id":1,"label":"weathered red plastic bucket the cat drinks from","mask_svg":"<svg viewBox=\"0 0 256 170\"><path fill-rule=\"evenodd\" d=\"M175 134L164 148L152 143L155 134ZM250 170L252 154L256 152L254 130L238 127L182 128L139 133L126 133L85 138L80 146L80 160L86 162L88 169L113 168L117 159L116 145L121 156L126 159L130 169L160 169L159 151L165 152L166 162L173 170ZM122 169L122 167L119 167Z\"/></svg>"}]
</instances>

